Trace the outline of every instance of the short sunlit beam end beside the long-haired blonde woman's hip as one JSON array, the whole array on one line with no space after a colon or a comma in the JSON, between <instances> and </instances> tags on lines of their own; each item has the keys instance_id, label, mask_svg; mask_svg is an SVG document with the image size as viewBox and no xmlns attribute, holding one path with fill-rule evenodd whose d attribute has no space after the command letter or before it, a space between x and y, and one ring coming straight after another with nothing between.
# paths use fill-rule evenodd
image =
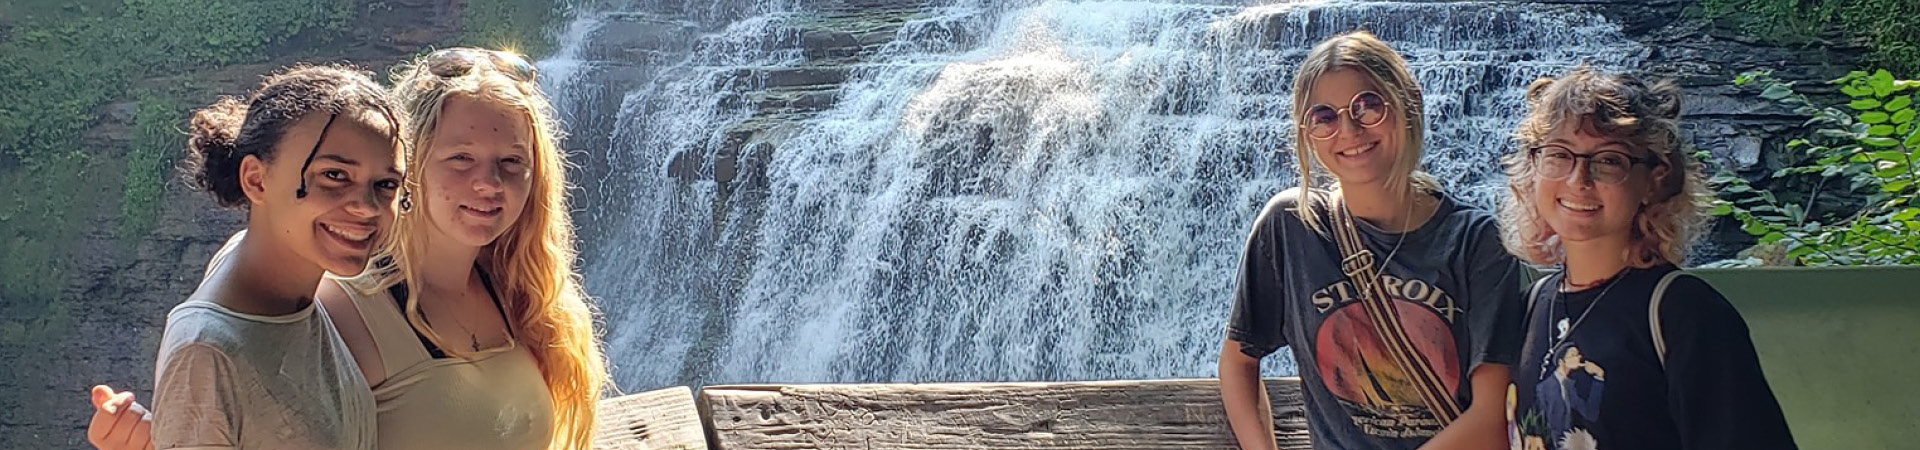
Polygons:
<instances>
[{"instance_id":1,"label":"short sunlit beam end beside the long-haired blonde woman's hip","mask_svg":"<svg viewBox=\"0 0 1920 450\"><path fill-rule=\"evenodd\" d=\"M687 387L601 400L595 425L593 448L707 450L707 429Z\"/></svg>"}]
</instances>

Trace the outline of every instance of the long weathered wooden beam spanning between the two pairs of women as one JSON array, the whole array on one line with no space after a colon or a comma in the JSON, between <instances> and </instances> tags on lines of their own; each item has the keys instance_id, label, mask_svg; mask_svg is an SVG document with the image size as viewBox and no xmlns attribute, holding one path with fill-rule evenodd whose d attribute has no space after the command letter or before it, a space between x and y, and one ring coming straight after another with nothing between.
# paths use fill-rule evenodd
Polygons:
<instances>
[{"instance_id":1,"label":"long weathered wooden beam spanning between the two pairs of women","mask_svg":"<svg viewBox=\"0 0 1920 450\"><path fill-rule=\"evenodd\" d=\"M1300 379L1269 379L1281 448L1309 448ZM943 383L707 387L714 446L1235 448L1219 383Z\"/></svg>"}]
</instances>

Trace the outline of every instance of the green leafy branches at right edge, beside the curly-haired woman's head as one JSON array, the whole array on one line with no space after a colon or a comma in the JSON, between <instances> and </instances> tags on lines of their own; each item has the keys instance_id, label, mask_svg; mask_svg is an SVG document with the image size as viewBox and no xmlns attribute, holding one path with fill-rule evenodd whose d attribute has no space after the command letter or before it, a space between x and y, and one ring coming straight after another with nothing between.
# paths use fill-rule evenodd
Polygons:
<instances>
[{"instance_id":1,"label":"green leafy branches at right edge, beside the curly-haired woman's head","mask_svg":"<svg viewBox=\"0 0 1920 450\"><path fill-rule=\"evenodd\" d=\"M1893 265L1920 263L1920 81L1889 71L1853 71L1830 81L1851 100L1820 106L1766 71L1734 85L1809 115L1807 137L1788 142L1791 158L1761 188L1732 173L1713 185L1713 213L1759 237L1766 263Z\"/></svg>"}]
</instances>

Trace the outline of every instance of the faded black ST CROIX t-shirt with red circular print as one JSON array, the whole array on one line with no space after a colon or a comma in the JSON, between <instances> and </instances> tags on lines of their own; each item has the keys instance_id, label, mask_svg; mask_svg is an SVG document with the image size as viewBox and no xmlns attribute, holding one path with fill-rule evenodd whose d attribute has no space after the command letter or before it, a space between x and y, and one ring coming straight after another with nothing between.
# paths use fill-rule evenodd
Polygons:
<instances>
[{"instance_id":1,"label":"faded black ST CROIX t-shirt with red circular print","mask_svg":"<svg viewBox=\"0 0 1920 450\"><path fill-rule=\"evenodd\" d=\"M1442 429L1421 392L1465 410L1475 367L1517 362L1523 269L1490 213L1440 196L1432 219L1404 235L1356 223L1390 296L1390 312L1369 306L1332 237L1294 213L1298 192L1275 196L1254 223L1227 337L1252 358L1292 348L1313 448L1415 448Z\"/></svg>"}]
</instances>

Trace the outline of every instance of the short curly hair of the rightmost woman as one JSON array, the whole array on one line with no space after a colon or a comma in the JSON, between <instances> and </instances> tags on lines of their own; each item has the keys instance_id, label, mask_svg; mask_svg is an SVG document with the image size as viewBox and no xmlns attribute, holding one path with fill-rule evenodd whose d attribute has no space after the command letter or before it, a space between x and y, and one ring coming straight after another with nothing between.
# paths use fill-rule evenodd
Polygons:
<instances>
[{"instance_id":1,"label":"short curly hair of the rightmost woman","mask_svg":"<svg viewBox=\"0 0 1920 450\"><path fill-rule=\"evenodd\" d=\"M1626 263L1651 267L1682 263L1686 248L1705 221L1711 196L1699 163L1680 142L1680 88L1672 83L1647 85L1632 75L1576 67L1559 79L1538 79L1526 88L1526 119L1513 133L1517 152L1501 158L1513 198L1500 208L1501 240L1507 252L1536 265L1567 262L1559 237L1540 219L1526 198L1534 194L1534 162L1526 148L1548 140L1561 127L1619 140L1645 150L1667 167L1653 181L1653 192L1634 215Z\"/></svg>"}]
</instances>

